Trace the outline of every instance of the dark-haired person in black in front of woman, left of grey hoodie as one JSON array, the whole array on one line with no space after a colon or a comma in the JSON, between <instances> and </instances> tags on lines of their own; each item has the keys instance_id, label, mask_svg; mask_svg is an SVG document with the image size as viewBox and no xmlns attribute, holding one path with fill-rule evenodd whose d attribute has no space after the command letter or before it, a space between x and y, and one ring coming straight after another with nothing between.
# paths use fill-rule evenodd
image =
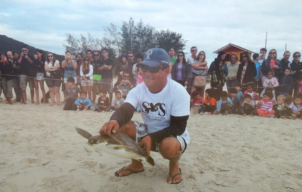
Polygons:
<instances>
[{"instance_id":1,"label":"dark-haired person in black in front of woman, left of grey hoodie","mask_svg":"<svg viewBox=\"0 0 302 192\"><path fill-rule=\"evenodd\" d=\"M226 76L223 72L223 60L215 58L214 70L211 76L211 88L213 89L213 97L218 101L222 95L222 88L226 82Z\"/></svg>"}]
</instances>

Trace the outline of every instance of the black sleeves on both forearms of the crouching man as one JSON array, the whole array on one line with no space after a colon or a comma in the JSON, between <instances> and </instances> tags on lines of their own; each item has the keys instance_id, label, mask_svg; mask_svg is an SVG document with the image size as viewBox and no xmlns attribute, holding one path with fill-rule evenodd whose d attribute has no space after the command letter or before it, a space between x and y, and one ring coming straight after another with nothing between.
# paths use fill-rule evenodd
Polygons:
<instances>
[{"instance_id":1,"label":"black sleeves on both forearms of the crouching man","mask_svg":"<svg viewBox=\"0 0 302 192\"><path fill-rule=\"evenodd\" d=\"M121 127L131 120L134 111L135 108L130 103L124 103L123 106L112 114L110 120L116 120ZM188 118L189 116L171 116L168 127L149 134L152 142L160 143L166 137L182 135L185 132Z\"/></svg>"}]
</instances>

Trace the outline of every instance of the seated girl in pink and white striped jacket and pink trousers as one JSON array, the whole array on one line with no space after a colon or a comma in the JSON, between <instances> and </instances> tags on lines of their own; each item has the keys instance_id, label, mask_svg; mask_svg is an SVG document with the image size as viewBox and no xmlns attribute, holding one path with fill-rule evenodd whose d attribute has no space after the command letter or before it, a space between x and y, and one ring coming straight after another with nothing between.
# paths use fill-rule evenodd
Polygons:
<instances>
[{"instance_id":1,"label":"seated girl in pink and white striped jacket and pink trousers","mask_svg":"<svg viewBox=\"0 0 302 192\"><path fill-rule=\"evenodd\" d=\"M259 99L257 105L259 109L257 109L257 113L262 117L274 117L275 111L273 110L274 102L271 100L273 98L273 93L267 91L263 93L263 98Z\"/></svg>"}]
</instances>

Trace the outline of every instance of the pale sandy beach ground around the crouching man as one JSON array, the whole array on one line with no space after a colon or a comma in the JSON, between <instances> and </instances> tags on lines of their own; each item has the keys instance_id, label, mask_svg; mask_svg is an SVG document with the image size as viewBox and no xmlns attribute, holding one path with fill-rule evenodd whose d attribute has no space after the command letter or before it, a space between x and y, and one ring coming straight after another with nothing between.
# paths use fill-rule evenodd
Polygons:
<instances>
[{"instance_id":1,"label":"pale sandy beach ground around the crouching man","mask_svg":"<svg viewBox=\"0 0 302 192\"><path fill-rule=\"evenodd\" d=\"M0 102L0 191L302 191L300 119L191 115L183 181L171 185L169 161L158 153L151 152L155 166L115 177L130 160L88 146L75 131L96 135L111 115Z\"/></svg>"}]
</instances>

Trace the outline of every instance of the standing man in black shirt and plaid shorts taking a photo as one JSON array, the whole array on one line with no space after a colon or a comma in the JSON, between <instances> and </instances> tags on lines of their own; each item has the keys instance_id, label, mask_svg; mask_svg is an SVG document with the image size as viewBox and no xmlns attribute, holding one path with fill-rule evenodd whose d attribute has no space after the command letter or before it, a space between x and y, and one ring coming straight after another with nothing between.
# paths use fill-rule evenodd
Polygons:
<instances>
[{"instance_id":1,"label":"standing man in black shirt and plaid shorts taking a photo","mask_svg":"<svg viewBox=\"0 0 302 192\"><path fill-rule=\"evenodd\" d=\"M26 104L27 82L29 88L31 89L31 103L34 103L34 78L27 77L29 69L34 68L32 65L34 63L34 57L28 54L28 48L25 45L21 47L21 56L19 57L18 63L21 65L21 73L19 77L21 95L23 99L21 104Z\"/></svg>"}]
</instances>

